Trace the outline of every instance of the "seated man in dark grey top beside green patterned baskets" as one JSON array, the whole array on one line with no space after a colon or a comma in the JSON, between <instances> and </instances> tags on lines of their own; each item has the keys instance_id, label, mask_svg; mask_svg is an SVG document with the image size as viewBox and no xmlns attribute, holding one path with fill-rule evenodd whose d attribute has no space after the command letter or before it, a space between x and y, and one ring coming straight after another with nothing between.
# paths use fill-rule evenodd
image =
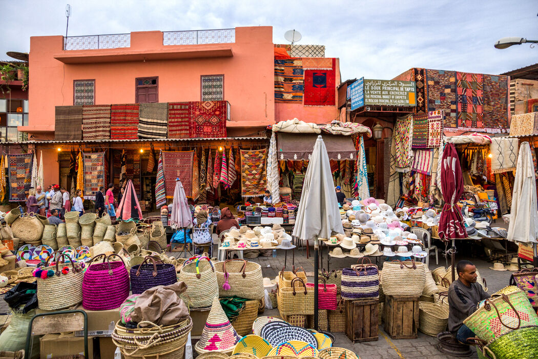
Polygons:
<instances>
[{"instance_id":1,"label":"seated man in dark grey top beside green patterned baskets","mask_svg":"<svg viewBox=\"0 0 538 359\"><path fill-rule=\"evenodd\" d=\"M469 338L475 336L463 321L478 309L478 303L490 298L482 285L476 283L476 266L469 261L459 261L456 266L458 279L448 288L448 330L456 335L456 339L469 344Z\"/></svg>"}]
</instances>

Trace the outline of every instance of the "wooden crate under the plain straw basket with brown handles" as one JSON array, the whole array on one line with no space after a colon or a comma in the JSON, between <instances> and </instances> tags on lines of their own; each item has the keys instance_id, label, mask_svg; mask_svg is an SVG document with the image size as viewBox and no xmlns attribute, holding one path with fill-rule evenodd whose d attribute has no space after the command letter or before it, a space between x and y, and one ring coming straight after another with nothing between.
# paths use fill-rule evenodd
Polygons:
<instances>
[{"instance_id":1,"label":"wooden crate under the plain straw basket with brown handles","mask_svg":"<svg viewBox=\"0 0 538 359\"><path fill-rule=\"evenodd\" d=\"M419 328L419 297L385 296L385 332L392 339L415 339Z\"/></svg>"}]
</instances>

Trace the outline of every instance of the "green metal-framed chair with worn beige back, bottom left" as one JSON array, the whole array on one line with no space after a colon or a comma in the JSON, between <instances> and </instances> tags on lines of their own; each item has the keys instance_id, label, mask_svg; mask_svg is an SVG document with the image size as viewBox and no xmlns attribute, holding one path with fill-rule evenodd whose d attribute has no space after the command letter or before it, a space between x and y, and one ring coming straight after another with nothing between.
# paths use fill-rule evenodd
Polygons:
<instances>
[{"instance_id":1,"label":"green metal-framed chair with worn beige back, bottom left","mask_svg":"<svg viewBox=\"0 0 538 359\"><path fill-rule=\"evenodd\" d=\"M82 314L82 315L77 315ZM52 316L52 317L50 317ZM50 317L50 318L47 318ZM26 333L24 359L31 358L32 335L44 335L64 332L84 332L84 357L88 359L88 315L80 309L36 314L30 319ZM70 353L75 354L75 353Z\"/></svg>"}]
</instances>

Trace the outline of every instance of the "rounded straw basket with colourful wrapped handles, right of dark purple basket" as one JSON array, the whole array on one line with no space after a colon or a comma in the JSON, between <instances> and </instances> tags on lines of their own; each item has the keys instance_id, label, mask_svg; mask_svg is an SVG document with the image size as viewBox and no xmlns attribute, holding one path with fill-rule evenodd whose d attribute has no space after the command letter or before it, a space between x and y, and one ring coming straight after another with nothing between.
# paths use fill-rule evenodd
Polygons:
<instances>
[{"instance_id":1,"label":"rounded straw basket with colourful wrapped handles, right of dark purple basket","mask_svg":"<svg viewBox=\"0 0 538 359\"><path fill-rule=\"evenodd\" d=\"M187 291L181 294L181 298L189 304L189 308L210 307L213 298L218 297L215 266L207 257L188 259L179 272L179 280L187 284Z\"/></svg>"}]
</instances>

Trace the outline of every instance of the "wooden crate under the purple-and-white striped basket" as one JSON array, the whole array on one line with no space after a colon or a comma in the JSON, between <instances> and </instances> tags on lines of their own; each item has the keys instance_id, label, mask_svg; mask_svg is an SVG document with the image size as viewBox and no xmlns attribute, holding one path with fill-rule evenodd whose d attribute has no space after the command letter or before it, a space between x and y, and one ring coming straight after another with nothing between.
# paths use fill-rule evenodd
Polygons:
<instances>
[{"instance_id":1,"label":"wooden crate under the purple-and-white striped basket","mask_svg":"<svg viewBox=\"0 0 538 359\"><path fill-rule=\"evenodd\" d=\"M378 340L378 299L345 301L345 335L352 342Z\"/></svg>"}]
</instances>

